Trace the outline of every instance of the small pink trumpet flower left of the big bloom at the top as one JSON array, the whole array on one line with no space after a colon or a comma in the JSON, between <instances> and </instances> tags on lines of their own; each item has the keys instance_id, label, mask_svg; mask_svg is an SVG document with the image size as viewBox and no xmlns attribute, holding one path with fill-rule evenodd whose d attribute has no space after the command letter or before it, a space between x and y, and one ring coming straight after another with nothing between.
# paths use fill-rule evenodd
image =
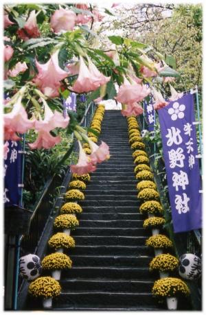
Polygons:
<instances>
[{"instance_id":1,"label":"small pink trumpet flower left of the big bloom at the top","mask_svg":"<svg viewBox=\"0 0 206 315\"><path fill-rule=\"evenodd\" d=\"M23 40L28 40L30 38L37 38L41 36L38 30L38 25L36 23L36 13L35 10L30 12L30 16L27 19L23 28L17 31L19 37Z\"/></svg>"}]
</instances>

